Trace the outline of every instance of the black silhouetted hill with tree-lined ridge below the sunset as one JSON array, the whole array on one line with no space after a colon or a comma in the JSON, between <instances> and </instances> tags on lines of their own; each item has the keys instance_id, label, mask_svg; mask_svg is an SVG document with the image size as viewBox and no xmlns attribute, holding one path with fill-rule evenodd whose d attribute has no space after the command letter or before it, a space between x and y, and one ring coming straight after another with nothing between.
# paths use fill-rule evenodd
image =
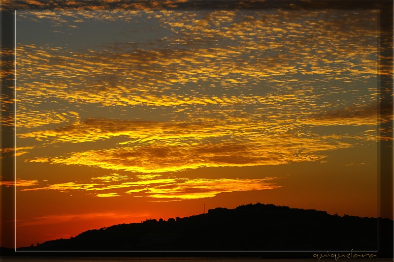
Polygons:
<instances>
[{"instance_id":1,"label":"black silhouetted hill with tree-lined ridge below the sunset","mask_svg":"<svg viewBox=\"0 0 394 262\"><path fill-rule=\"evenodd\" d=\"M148 219L88 230L69 239L18 250L372 251L377 250L378 227L382 226L393 232L390 219L337 216L258 203L234 209L218 207L206 214L167 221ZM379 241L384 241L387 250L392 249L389 233L380 233Z\"/></svg>"}]
</instances>

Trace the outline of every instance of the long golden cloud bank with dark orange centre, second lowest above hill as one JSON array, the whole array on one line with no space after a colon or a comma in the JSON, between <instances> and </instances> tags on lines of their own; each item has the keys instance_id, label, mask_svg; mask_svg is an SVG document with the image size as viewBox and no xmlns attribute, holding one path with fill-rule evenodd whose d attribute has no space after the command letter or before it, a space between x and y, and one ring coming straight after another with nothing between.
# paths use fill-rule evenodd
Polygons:
<instances>
[{"instance_id":1,"label":"long golden cloud bank with dark orange centre, second lowest above hill","mask_svg":"<svg viewBox=\"0 0 394 262\"><path fill-rule=\"evenodd\" d=\"M93 166L141 173L176 172L201 167L278 165L316 161L322 151L350 146L332 138L250 136L249 142L159 144L73 152L62 157L30 158L31 162ZM336 138L336 140L338 140Z\"/></svg>"}]
</instances>

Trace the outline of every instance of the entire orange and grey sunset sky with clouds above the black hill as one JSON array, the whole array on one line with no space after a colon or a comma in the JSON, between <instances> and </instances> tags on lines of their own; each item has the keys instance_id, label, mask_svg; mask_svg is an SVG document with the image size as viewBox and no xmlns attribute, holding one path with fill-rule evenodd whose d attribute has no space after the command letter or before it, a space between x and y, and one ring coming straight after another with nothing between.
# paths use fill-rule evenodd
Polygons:
<instances>
[{"instance_id":1,"label":"entire orange and grey sunset sky with clouds above the black hill","mask_svg":"<svg viewBox=\"0 0 394 262\"><path fill-rule=\"evenodd\" d=\"M257 202L377 217L377 36L376 10L18 10L16 246Z\"/></svg>"}]
</instances>

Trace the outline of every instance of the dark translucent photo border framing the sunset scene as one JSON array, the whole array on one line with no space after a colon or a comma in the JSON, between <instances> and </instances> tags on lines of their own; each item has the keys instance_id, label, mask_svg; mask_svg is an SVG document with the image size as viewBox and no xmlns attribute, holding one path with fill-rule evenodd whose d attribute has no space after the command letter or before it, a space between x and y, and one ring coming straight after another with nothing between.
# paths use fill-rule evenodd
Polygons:
<instances>
[{"instance_id":1,"label":"dark translucent photo border framing the sunset scene","mask_svg":"<svg viewBox=\"0 0 394 262\"><path fill-rule=\"evenodd\" d=\"M32 1L33 2L33 1ZM67 5L62 9L65 0L37 0L31 4L28 0L6 0L1 3L1 50L14 50L15 48L15 11L18 10L84 10L84 5L104 6L104 10L126 10L122 3L135 3L149 9L168 10L378 10L378 117L393 114L393 0L188 0L183 1L154 1L154 0L118 0L107 2L105 0L74 0L74 6ZM91 9L85 9L91 10ZM127 9L143 10L143 8ZM13 119L15 116L14 101L15 61L13 52L2 52L1 57L1 109L2 118ZM393 122L380 123L378 136L385 129L385 136L393 138ZM389 133L387 133L389 130ZM14 126L1 126L1 148L15 147ZM13 153L13 152L11 152ZM4 153L3 153L4 154ZM379 140L378 142L378 215L379 217L393 217L393 140ZM14 180L14 157L1 158L1 176L6 180ZM15 213L15 187L1 190L1 238L15 240L14 213ZM379 261L390 259L393 261L392 230L378 225L378 251ZM251 259L312 259L311 252L24 252L17 253L15 249L0 250L0 258L7 256L18 257L130 257L130 258L233 258L236 261L249 261ZM231 261L234 261L231 259ZM368 259L367 261L373 261Z\"/></svg>"}]
</instances>

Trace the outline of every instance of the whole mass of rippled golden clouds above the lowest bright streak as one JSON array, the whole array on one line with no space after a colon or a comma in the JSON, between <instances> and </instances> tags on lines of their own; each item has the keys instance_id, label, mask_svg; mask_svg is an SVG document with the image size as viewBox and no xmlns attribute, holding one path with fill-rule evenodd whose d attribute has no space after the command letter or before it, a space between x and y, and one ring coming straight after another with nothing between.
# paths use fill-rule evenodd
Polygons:
<instances>
[{"instance_id":1,"label":"whole mass of rippled golden clouds above the lowest bright streak","mask_svg":"<svg viewBox=\"0 0 394 262\"><path fill-rule=\"evenodd\" d=\"M318 161L326 150L351 146L310 127L372 125L376 97L365 86L376 80L376 13L298 11L133 11L124 15L142 17L138 29L149 21L166 35L86 50L18 45L18 138L106 140L101 149L24 159L153 174ZM45 17L96 23L123 13L95 14ZM44 110L48 97L78 113ZM81 120L91 106L131 119ZM44 126L50 123L56 127Z\"/></svg>"}]
</instances>

